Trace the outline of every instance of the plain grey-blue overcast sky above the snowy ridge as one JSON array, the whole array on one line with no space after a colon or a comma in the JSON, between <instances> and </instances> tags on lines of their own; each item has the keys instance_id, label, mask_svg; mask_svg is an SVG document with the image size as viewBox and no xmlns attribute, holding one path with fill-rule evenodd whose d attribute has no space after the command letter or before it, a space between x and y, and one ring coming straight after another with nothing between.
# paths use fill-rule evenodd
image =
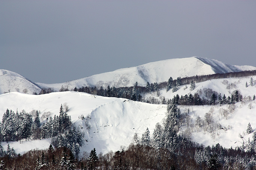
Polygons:
<instances>
[{"instance_id":1,"label":"plain grey-blue overcast sky above the snowy ridge","mask_svg":"<svg viewBox=\"0 0 256 170\"><path fill-rule=\"evenodd\" d=\"M255 0L0 1L0 69L61 83L159 60L256 67Z\"/></svg>"}]
</instances>

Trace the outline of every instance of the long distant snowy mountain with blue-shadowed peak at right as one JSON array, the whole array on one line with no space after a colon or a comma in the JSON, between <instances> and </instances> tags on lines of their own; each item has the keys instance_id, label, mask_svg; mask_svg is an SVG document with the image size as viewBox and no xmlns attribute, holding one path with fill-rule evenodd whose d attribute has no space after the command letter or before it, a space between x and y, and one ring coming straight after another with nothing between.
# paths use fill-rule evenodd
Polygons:
<instances>
[{"instance_id":1,"label":"long distant snowy mountain with blue-shadowed peak at right","mask_svg":"<svg viewBox=\"0 0 256 170\"><path fill-rule=\"evenodd\" d=\"M60 84L37 83L42 87L50 87L59 90L61 86L68 86L72 89L81 86L133 86L137 81L139 85L145 86L149 83L168 81L170 76L173 79L177 77L189 77L195 75L209 75L215 73L240 72L244 70L256 70L253 66L232 66L222 63L218 60L190 57L182 59L169 59L158 62L143 64L137 67L118 69L113 72L92 75L86 78Z\"/></svg>"}]
</instances>

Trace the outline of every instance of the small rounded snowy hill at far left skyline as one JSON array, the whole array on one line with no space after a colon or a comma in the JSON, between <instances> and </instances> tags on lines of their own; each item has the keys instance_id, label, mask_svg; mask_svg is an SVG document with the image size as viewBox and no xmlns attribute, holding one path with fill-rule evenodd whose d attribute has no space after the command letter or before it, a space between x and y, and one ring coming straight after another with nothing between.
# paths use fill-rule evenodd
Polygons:
<instances>
[{"instance_id":1,"label":"small rounded snowy hill at far left skyline","mask_svg":"<svg viewBox=\"0 0 256 170\"><path fill-rule=\"evenodd\" d=\"M0 94L5 92L24 92L33 94L33 92L40 92L41 88L19 75L18 73L8 70L0 70Z\"/></svg>"}]
</instances>

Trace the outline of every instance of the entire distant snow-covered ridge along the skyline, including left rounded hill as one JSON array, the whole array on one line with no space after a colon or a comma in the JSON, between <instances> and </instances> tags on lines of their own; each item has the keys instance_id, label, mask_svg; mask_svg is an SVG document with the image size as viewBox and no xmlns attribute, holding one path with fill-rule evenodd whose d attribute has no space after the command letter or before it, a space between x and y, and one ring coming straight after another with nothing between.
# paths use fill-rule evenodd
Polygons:
<instances>
[{"instance_id":1,"label":"entire distant snow-covered ridge along the skyline, including left rounded hill","mask_svg":"<svg viewBox=\"0 0 256 170\"><path fill-rule=\"evenodd\" d=\"M79 88L81 86L103 86L103 88L115 86L118 88L133 86L135 82L138 82L138 85L145 86L147 81L149 83L165 82L170 77L176 79L179 76L185 78L196 75L211 75L246 70L256 70L256 67L233 66L218 60L189 57L151 62L59 84L34 83L18 73L0 70L0 94L5 92L23 92L24 89L27 90L28 94L33 94L39 93L42 88L54 88L55 91L59 91L61 86L68 87L68 89Z\"/></svg>"}]
</instances>

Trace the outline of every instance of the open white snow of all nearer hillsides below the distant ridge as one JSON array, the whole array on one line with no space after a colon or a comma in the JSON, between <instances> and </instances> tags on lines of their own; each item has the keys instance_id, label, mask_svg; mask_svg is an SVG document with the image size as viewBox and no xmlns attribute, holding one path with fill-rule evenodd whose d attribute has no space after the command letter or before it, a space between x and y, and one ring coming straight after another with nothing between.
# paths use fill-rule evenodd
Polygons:
<instances>
[{"instance_id":1,"label":"open white snow of all nearer hillsides below the distant ridge","mask_svg":"<svg viewBox=\"0 0 256 170\"><path fill-rule=\"evenodd\" d=\"M255 77L256 78L256 77ZM254 86L244 86L244 82L249 79L244 78L230 78L226 79L229 83L236 82L237 88L240 89L243 96L256 94ZM196 92L200 88L209 87L216 90L220 89L223 94L229 95L229 91L234 89L226 89L226 84L222 83L223 80L211 80L196 84L196 89L192 91ZM165 89L161 91L161 95L165 97L172 97L179 93L183 95L189 92L187 89L183 89L183 86L179 91L172 93L167 92ZM154 93L150 94L156 97ZM61 104L67 103L70 107L68 115L71 115L73 123L79 127L84 135L84 145L81 148L80 153L83 151L89 152L92 148L96 148L97 152L106 153L110 150L116 151L121 146L128 146L132 142L134 133L138 133L141 137L146 128L149 127L150 135L153 134L153 129L156 123L162 123L165 117L166 105L148 104L136 101L131 101L123 98L108 98L82 93L82 92L54 92L44 95L28 95L17 92L7 93L0 95L0 116L3 115L5 110L12 109L21 111L24 109L30 112L33 109L40 110L42 116L45 112L50 112L51 115L58 115ZM15 104L14 104L15 103ZM248 105L252 103L250 109ZM195 142L204 145L215 145L220 143L223 147L236 147L241 146L243 141L248 141L252 134L246 134L246 127L250 122L253 130L256 128L256 117L254 113L256 111L256 103L253 100L242 101L235 104L235 109L228 116L219 114L219 110L228 109L229 105L216 105L216 106L179 106L181 113L185 114L190 110L189 116L191 117L191 123L189 128L184 123L181 126L179 133L185 134ZM203 129L195 128L195 121L197 116L204 119L205 113L213 110L214 123L222 125L223 129L217 129L214 133L204 132ZM246 113L246 114L245 114ZM85 119L79 119L82 116ZM45 119L44 119L45 120ZM240 136L243 138L240 138ZM87 141L86 141L87 140ZM30 149L35 148L48 148L50 139L44 139L40 141L22 141L9 142L11 147L14 147L16 152L23 153ZM4 149L7 148L7 143L2 143Z\"/></svg>"}]
</instances>

